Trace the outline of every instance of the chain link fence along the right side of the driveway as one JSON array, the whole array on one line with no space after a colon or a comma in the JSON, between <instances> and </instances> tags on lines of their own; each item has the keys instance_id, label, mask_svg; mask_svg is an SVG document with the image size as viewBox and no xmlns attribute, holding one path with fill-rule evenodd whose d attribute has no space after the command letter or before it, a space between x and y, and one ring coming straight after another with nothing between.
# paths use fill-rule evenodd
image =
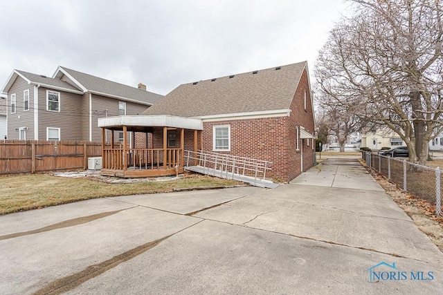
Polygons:
<instances>
[{"instance_id":1,"label":"chain link fence along the right side of the driveway","mask_svg":"<svg viewBox=\"0 0 443 295\"><path fill-rule=\"evenodd\" d=\"M435 204L435 214L442 216L443 173L440 168L432 168L363 151L366 164L404 191Z\"/></svg>"}]
</instances>

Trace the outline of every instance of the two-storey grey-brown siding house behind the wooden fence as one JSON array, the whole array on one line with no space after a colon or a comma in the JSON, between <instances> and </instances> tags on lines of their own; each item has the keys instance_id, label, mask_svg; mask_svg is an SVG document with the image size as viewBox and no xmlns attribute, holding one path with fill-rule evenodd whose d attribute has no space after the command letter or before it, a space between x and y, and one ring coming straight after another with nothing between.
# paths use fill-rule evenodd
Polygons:
<instances>
[{"instance_id":1,"label":"two-storey grey-brown siding house behind the wooden fence","mask_svg":"<svg viewBox=\"0 0 443 295\"><path fill-rule=\"evenodd\" d=\"M2 92L11 140L100 142L99 117L138 115L163 97L144 84L134 88L62 66L53 77L13 70ZM123 133L115 138L123 141Z\"/></svg>"}]
</instances>

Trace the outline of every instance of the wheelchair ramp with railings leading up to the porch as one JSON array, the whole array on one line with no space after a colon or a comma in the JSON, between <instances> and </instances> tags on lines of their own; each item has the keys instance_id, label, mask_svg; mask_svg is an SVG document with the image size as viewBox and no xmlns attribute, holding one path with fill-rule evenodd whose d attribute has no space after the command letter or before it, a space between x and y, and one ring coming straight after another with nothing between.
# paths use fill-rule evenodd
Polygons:
<instances>
[{"instance_id":1,"label":"wheelchair ramp with railings leading up to the porch","mask_svg":"<svg viewBox=\"0 0 443 295\"><path fill-rule=\"evenodd\" d=\"M238 180L255 187L275 189L280 186L280 184L265 179L266 171L271 170L269 168L271 162L268 161L208 151L185 151L185 159L186 171Z\"/></svg>"}]
</instances>

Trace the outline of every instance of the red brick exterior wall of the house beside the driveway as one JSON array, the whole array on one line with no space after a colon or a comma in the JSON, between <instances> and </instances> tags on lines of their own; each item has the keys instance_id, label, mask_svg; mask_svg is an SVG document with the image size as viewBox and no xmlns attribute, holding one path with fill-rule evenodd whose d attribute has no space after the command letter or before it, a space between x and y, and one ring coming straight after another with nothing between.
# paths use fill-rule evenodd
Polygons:
<instances>
[{"instance_id":1,"label":"red brick exterior wall of the house beside the driveway","mask_svg":"<svg viewBox=\"0 0 443 295\"><path fill-rule=\"evenodd\" d=\"M306 108L305 108L306 92ZM315 140L301 140L300 128L314 134L314 115L311 105L309 78L305 70L300 78L296 93L291 102L289 117L268 117L248 120L225 120L204 122L203 150L213 151L213 126L230 126L230 155L238 155L273 162L267 178L289 182L300 173L313 166ZM297 149L297 129L299 129ZM163 147L163 131L154 129L154 148ZM177 130L177 143L180 132ZM197 149L200 149L200 131L197 136ZM185 150L194 151L194 131L185 130ZM301 169L303 162L303 169Z\"/></svg>"}]
</instances>

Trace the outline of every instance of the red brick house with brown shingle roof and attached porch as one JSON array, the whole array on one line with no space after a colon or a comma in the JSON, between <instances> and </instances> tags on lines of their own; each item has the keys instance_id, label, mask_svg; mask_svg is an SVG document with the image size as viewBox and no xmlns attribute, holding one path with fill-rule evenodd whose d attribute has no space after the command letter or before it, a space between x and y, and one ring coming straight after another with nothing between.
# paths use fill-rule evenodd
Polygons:
<instances>
[{"instance_id":1,"label":"red brick house with brown shingle roof and attached porch","mask_svg":"<svg viewBox=\"0 0 443 295\"><path fill-rule=\"evenodd\" d=\"M162 173L175 173L174 165L183 168L183 149L270 161L266 176L286 182L314 164L306 61L182 84L143 116L100 118L98 124L102 134L110 129L152 135L152 142L136 140L131 151L104 147L107 175L142 176L146 173L137 169L159 169L159 164Z\"/></svg>"}]
</instances>

